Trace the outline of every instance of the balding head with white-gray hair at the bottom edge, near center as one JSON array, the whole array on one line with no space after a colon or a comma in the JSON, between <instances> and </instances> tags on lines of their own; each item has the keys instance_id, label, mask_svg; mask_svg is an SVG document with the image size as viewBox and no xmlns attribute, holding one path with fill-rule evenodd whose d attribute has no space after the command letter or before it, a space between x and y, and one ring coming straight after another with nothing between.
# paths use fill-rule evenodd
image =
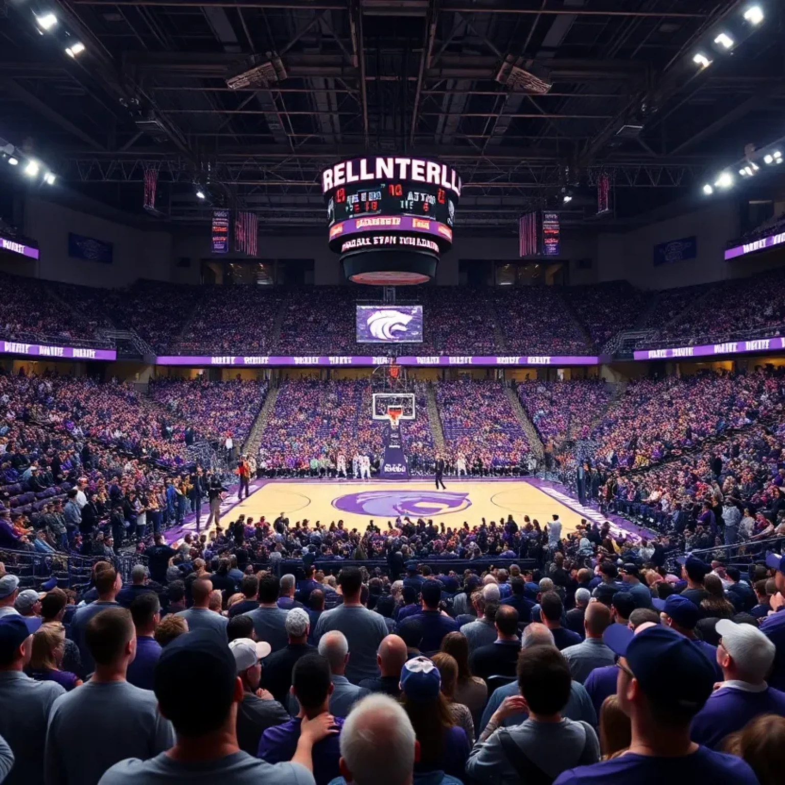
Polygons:
<instances>
[{"instance_id":1,"label":"balding head with white-gray hair at the bottom edge, near center","mask_svg":"<svg viewBox=\"0 0 785 785\"><path fill-rule=\"evenodd\" d=\"M417 737L406 711L389 696L371 695L356 703L340 744L341 778L335 785L411 785Z\"/></svg>"}]
</instances>

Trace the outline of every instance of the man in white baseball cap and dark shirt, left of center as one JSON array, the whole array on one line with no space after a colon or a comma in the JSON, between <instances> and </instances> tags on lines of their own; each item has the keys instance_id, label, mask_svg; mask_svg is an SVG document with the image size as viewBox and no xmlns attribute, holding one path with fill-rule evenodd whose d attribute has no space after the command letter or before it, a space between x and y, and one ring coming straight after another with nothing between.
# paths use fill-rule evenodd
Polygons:
<instances>
[{"instance_id":1,"label":"man in white baseball cap and dark shirt, left of center","mask_svg":"<svg viewBox=\"0 0 785 785\"><path fill-rule=\"evenodd\" d=\"M229 641L235 655L237 675L243 682L243 700L237 707L237 743L244 752L255 755L261 734L272 725L289 720L289 713L269 692L259 688L261 659L270 653L270 644L251 638Z\"/></svg>"}]
</instances>

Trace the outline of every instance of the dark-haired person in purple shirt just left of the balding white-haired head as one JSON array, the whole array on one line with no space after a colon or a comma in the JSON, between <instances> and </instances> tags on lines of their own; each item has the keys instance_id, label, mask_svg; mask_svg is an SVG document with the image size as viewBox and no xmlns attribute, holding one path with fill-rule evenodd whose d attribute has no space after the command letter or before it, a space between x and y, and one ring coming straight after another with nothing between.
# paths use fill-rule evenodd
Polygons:
<instances>
[{"instance_id":1,"label":"dark-haired person in purple shirt just left of the balding white-haired head","mask_svg":"<svg viewBox=\"0 0 785 785\"><path fill-rule=\"evenodd\" d=\"M341 717L333 717L327 710L333 685L330 665L318 654L308 654L298 659L292 671L292 693L300 710L283 725L267 728L259 740L258 755L268 763L289 761L298 748L301 733L307 722L316 721L330 728L330 732L313 745L313 776L316 785L327 785L339 776L339 734L343 725Z\"/></svg>"}]
</instances>

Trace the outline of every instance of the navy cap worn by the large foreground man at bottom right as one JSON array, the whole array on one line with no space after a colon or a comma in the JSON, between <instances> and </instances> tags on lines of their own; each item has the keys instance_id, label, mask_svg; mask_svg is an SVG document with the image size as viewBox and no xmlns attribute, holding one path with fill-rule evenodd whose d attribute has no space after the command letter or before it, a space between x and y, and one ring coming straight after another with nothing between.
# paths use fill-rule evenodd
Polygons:
<instances>
[{"instance_id":1,"label":"navy cap worn by the large foreground man at bottom right","mask_svg":"<svg viewBox=\"0 0 785 785\"><path fill-rule=\"evenodd\" d=\"M626 659L644 694L659 706L696 714L714 689L714 663L670 627L643 627L616 653Z\"/></svg>"}]
</instances>

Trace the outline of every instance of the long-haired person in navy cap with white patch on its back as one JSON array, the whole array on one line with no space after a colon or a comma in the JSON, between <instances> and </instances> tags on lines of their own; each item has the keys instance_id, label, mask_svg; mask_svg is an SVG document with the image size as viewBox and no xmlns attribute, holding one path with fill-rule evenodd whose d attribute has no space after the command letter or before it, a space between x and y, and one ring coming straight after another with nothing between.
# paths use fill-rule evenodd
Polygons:
<instances>
[{"instance_id":1,"label":"long-haired person in navy cap with white patch on its back","mask_svg":"<svg viewBox=\"0 0 785 785\"><path fill-rule=\"evenodd\" d=\"M469 739L455 725L447 700L441 694L441 676L425 657L407 660L400 674L401 702L420 743L415 777L444 772L462 777L469 757Z\"/></svg>"}]
</instances>

